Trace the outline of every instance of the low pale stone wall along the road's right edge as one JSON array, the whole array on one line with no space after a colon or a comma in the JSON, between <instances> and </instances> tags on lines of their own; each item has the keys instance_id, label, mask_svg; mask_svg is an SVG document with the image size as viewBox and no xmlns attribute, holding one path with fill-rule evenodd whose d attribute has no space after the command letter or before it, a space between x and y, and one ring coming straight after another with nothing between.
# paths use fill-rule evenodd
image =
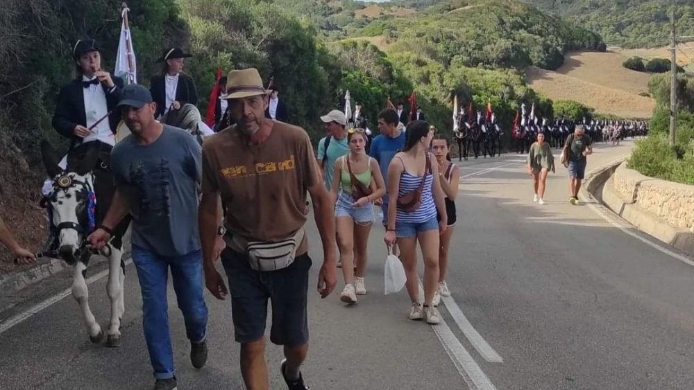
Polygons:
<instances>
[{"instance_id":1,"label":"low pale stone wall along the road's right edge","mask_svg":"<svg viewBox=\"0 0 694 390\"><path fill-rule=\"evenodd\" d=\"M614 189L627 202L694 233L694 186L641 175L627 168L626 163L617 168L613 182Z\"/></svg>"}]
</instances>

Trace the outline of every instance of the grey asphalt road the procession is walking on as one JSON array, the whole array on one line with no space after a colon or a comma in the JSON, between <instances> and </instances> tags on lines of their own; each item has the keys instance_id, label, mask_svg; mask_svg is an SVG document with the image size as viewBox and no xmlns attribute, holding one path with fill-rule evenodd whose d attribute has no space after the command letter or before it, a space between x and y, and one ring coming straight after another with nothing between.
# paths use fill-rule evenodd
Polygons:
<instances>
[{"instance_id":1,"label":"grey asphalt road the procession is walking on","mask_svg":"<svg viewBox=\"0 0 694 390\"><path fill-rule=\"evenodd\" d=\"M597 149L589 170L630 148ZM382 294L383 230L375 227L369 295L352 307L337 294L310 295L312 347L304 374L312 389L694 388L690 265L616 229L590 206L568 204L564 168L550 176L548 203L539 206L523 158L510 154L461 166L448 276L453 295L441 305L445 323L409 321L405 291ZM317 265L313 223L310 238ZM127 277L121 348L90 344L67 297L0 333L0 389L149 389L132 265ZM56 278L40 299L10 314L21 315L67 287L69 281ZM92 283L90 294L103 323L105 280ZM242 389L230 304L207 296L210 360L196 371L169 295L179 389ZM8 323L2 317L0 327ZM273 389L285 388L280 359L280 349L269 348Z\"/></svg>"}]
</instances>

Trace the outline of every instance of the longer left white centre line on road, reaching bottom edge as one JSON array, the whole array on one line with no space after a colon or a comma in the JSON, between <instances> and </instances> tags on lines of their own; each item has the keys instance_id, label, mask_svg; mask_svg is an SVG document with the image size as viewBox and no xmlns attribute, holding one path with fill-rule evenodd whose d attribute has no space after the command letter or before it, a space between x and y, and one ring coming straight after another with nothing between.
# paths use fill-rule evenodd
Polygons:
<instances>
[{"instance_id":1,"label":"longer left white centre line on road, reaching bottom edge","mask_svg":"<svg viewBox=\"0 0 694 390\"><path fill-rule=\"evenodd\" d=\"M419 296L424 296L424 287L421 281L419 281ZM471 390L496 390L496 386L491 383L491 380L482 371L480 365L475 362L472 355L465 349L460 340L455 337L445 319L441 318L441 322L438 325L432 325L431 327L434 330L434 335L441 342L443 350L448 353L451 362L453 362L458 373L460 373L460 376L462 376Z\"/></svg>"}]
</instances>

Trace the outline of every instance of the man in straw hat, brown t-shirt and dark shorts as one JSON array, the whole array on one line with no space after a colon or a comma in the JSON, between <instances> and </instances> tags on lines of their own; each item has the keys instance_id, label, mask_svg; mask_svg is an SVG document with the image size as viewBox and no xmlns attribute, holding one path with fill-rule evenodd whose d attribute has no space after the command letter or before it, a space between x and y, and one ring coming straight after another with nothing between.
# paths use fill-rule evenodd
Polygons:
<instances>
[{"instance_id":1,"label":"man in straw hat, brown t-shirt and dark shorts","mask_svg":"<svg viewBox=\"0 0 694 390\"><path fill-rule=\"evenodd\" d=\"M272 304L270 341L285 347L280 367L289 389L308 389L301 364L308 351L307 283L312 261L304 232L310 193L323 243L318 292L337 284L333 203L321 183L313 148L301 127L264 116L268 92L256 69L227 78L229 109L236 125L203 145L200 229L205 284L217 299L228 290L214 269L218 200L226 206L228 245L221 259L231 287L235 339L249 389L269 389L264 357L267 301Z\"/></svg>"}]
</instances>

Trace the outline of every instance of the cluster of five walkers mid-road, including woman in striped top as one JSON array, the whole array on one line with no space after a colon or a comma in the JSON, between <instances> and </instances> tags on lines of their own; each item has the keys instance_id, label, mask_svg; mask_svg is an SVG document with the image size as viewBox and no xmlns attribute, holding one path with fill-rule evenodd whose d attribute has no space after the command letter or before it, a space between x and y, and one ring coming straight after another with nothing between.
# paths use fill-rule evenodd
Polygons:
<instances>
[{"instance_id":1,"label":"cluster of five walkers mid-road, including woman in striped top","mask_svg":"<svg viewBox=\"0 0 694 390\"><path fill-rule=\"evenodd\" d=\"M342 112L333 110L321 120L328 135L319 141L317 164L335 201L344 277L341 301L357 303L357 295L367 292L366 245L377 220L374 207L380 206L384 242L389 251L399 254L405 268L409 318L439 323L436 306L441 295L450 295L445 275L459 181L459 168L450 162L448 139L434 139L436 128L425 121L410 121L403 130L398 126L398 112L384 109L378 114L380 134L367 155L365 130L346 129ZM424 260L423 297L419 296L417 244Z\"/></svg>"}]
</instances>

